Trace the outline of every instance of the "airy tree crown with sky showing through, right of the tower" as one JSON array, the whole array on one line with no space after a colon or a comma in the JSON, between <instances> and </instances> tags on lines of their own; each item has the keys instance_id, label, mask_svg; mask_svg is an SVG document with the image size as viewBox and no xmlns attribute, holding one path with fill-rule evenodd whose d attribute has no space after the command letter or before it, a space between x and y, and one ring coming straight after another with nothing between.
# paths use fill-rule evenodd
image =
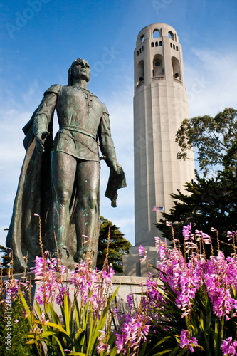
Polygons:
<instances>
[{"instance_id":1,"label":"airy tree crown with sky showing through, right of the tower","mask_svg":"<svg viewBox=\"0 0 237 356\"><path fill-rule=\"evenodd\" d=\"M177 159L185 160L194 147L201 170L207 172L217 164L223 169L232 169L237 160L237 110L226 108L215 117L204 115L185 119L176 137L181 148Z\"/></svg>"}]
</instances>

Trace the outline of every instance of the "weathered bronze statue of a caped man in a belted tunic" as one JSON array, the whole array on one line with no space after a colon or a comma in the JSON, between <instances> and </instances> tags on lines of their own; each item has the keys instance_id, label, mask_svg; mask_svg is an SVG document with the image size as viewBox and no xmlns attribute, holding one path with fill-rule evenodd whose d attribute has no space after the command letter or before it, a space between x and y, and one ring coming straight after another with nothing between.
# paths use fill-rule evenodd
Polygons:
<instances>
[{"instance_id":1,"label":"weathered bronze statue of a caped man in a belted tunic","mask_svg":"<svg viewBox=\"0 0 237 356\"><path fill-rule=\"evenodd\" d=\"M86 253L96 263L100 217L100 158L110 167L105 195L116 206L117 189L126 187L110 135L107 108L90 93L90 66L77 59L68 85L52 85L31 120L23 127L26 157L21 170L6 246L14 252L14 268L33 265L43 248L56 252L73 268ZM59 130L53 141L53 112ZM41 226L37 217L41 216ZM41 229L41 231L39 231ZM88 237L86 237L88 236Z\"/></svg>"}]
</instances>

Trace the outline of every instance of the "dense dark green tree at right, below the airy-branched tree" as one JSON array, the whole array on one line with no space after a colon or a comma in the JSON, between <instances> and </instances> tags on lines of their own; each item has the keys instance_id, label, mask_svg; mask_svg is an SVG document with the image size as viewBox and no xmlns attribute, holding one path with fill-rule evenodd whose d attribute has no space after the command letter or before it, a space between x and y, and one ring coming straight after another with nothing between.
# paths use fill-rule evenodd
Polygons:
<instances>
[{"instance_id":1,"label":"dense dark green tree at right, below the airy-branched tree","mask_svg":"<svg viewBox=\"0 0 237 356\"><path fill-rule=\"evenodd\" d=\"M172 240L172 231L166 221L172 223L175 238L183 244L182 227L191 223L195 229L204 231L212 237L214 248L217 248L216 232L218 230L221 250L233 253L231 241L226 238L227 231L237 230L237 175L234 172L219 172L217 177L206 179L196 175L196 180L184 185L187 194L178 190L171 194L174 207L170 213L163 213L157 227L164 237Z\"/></svg>"}]
</instances>

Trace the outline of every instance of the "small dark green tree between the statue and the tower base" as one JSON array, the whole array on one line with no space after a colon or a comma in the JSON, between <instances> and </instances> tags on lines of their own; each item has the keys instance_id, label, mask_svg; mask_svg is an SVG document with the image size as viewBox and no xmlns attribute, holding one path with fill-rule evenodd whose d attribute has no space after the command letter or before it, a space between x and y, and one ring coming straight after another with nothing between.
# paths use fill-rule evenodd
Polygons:
<instances>
[{"instance_id":1,"label":"small dark green tree between the statue and the tower base","mask_svg":"<svg viewBox=\"0 0 237 356\"><path fill-rule=\"evenodd\" d=\"M127 241L122 232L111 221L100 216L100 235L98 246L97 268L102 269L106 253L110 230L110 242L108 251L108 263L112 264L115 272L122 272L122 255L129 252L130 241Z\"/></svg>"}]
</instances>

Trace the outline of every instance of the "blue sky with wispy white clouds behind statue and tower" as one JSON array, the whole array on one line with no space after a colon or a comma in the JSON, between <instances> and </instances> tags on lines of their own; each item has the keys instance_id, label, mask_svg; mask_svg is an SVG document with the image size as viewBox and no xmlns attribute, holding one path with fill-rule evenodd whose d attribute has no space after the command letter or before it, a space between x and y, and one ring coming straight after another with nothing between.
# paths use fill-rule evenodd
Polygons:
<instances>
[{"instance_id":1,"label":"blue sky with wispy white clouds behind statue and tower","mask_svg":"<svg viewBox=\"0 0 237 356\"><path fill-rule=\"evenodd\" d=\"M133 51L137 34L168 23L183 48L191 117L237 108L236 0L0 0L0 244L11 221L24 150L23 132L53 84L66 85L75 58L90 63L90 90L110 111L126 189L117 208L103 197L109 170L102 163L100 212L134 244Z\"/></svg>"}]
</instances>

